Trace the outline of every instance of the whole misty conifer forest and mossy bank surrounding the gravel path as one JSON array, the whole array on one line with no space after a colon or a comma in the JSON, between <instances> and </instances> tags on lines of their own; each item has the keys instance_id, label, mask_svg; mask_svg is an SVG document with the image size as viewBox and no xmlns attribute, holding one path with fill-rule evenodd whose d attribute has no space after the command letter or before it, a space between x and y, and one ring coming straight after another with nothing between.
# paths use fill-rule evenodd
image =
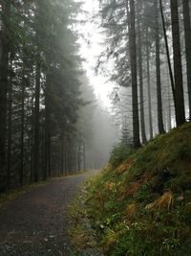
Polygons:
<instances>
[{"instance_id":1,"label":"whole misty conifer forest and mossy bank surrounding the gravel path","mask_svg":"<svg viewBox=\"0 0 191 256\"><path fill-rule=\"evenodd\" d=\"M190 0L0 0L0 199L102 169L84 200L104 255L190 255L190 15Z\"/></svg>"}]
</instances>

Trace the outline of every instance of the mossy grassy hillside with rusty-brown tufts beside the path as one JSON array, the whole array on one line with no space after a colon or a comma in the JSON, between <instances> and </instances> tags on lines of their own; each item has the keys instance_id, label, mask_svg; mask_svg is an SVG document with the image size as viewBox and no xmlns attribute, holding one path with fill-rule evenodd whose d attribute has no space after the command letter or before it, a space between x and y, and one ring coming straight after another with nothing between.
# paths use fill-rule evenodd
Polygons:
<instances>
[{"instance_id":1,"label":"mossy grassy hillside with rusty-brown tufts beside the path","mask_svg":"<svg viewBox=\"0 0 191 256\"><path fill-rule=\"evenodd\" d=\"M87 199L104 254L191 255L191 124L118 159L92 181Z\"/></svg>"}]
</instances>

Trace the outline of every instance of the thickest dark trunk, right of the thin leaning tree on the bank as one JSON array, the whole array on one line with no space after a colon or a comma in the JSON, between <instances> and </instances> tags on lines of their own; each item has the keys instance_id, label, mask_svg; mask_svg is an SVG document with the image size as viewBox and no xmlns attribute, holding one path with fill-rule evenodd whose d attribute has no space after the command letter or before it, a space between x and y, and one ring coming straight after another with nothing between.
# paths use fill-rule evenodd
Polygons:
<instances>
[{"instance_id":1,"label":"thickest dark trunk, right of the thin leaning tree on the bank","mask_svg":"<svg viewBox=\"0 0 191 256\"><path fill-rule=\"evenodd\" d=\"M180 55L180 26L178 0L171 0L171 19L173 35L173 54L174 54L174 76L175 76L175 112L177 126L185 122L185 110L183 99L182 66Z\"/></svg>"}]
</instances>

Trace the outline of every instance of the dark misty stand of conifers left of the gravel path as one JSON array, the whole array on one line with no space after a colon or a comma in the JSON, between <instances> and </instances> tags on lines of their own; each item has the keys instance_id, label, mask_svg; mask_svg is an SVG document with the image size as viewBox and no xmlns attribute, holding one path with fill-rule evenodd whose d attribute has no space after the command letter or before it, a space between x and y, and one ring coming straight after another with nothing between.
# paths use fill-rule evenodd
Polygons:
<instances>
[{"instance_id":1,"label":"dark misty stand of conifers left of the gravel path","mask_svg":"<svg viewBox=\"0 0 191 256\"><path fill-rule=\"evenodd\" d=\"M0 194L81 168L79 9L73 0L0 1Z\"/></svg>"}]
</instances>

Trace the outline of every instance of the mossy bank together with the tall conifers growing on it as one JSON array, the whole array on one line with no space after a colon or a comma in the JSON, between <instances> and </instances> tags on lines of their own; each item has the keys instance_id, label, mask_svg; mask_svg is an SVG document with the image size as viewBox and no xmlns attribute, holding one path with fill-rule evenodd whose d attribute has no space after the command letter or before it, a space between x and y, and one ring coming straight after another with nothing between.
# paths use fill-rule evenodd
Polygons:
<instances>
[{"instance_id":1,"label":"mossy bank together with the tall conifers growing on it","mask_svg":"<svg viewBox=\"0 0 191 256\"><path fill-rule=\"evenodd\" d=\"M96 71L116 84L120 140L75 202L78 251L96 237L92 255L191 255L190 13L190 0L99 0Z\"/></svg>"}]
</instances>

